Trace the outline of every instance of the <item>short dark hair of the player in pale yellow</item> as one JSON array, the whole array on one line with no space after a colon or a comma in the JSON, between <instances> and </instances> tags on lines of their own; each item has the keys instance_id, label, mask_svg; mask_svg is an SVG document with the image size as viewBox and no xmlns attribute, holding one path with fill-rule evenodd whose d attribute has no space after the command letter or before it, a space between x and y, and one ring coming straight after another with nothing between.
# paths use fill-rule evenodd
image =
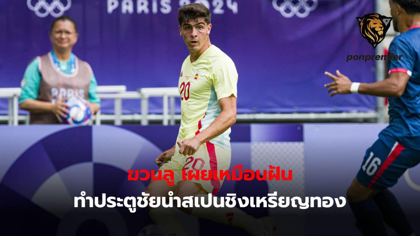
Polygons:
<instances>
[{"instance_id":1,"label":"short dark hair of the player in pale yellow","mask_svg":"<svg viewBox=\"0 0 420 236\"><path fill-rule=\"evenodd\" d=\"M200 3L191 3L179 8L178 10L178 23L180 26L189 20L197 21L197 18L201 17L204 18L204 21L207 23L207 25L210 24L210 10L206 8L205 5Z\"/></svg>"}]
</instances>

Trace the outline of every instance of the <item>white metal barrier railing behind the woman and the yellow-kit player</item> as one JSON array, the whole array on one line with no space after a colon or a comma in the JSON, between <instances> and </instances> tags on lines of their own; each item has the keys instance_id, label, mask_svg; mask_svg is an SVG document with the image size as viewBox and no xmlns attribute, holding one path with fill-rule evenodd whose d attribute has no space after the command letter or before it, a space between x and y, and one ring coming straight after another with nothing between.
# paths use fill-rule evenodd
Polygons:
<instances>
[{"instance_id":1,"label":"white metal barrier railing behind the woman and the yellow-kit player","mask_svg":"<svg viewBox=\"0 0 420 236\"><path fill-rule=\"evenodd\" d=\"M140 88L138 91L126 91L126 86L98 86L98 97L100 99L114 100L114 114L101 115L100 110L95 116L95 123L101 124L101 120L114 120L115 125L121 125L123 120L140 120L142 125L147 125L149 120L162 120L163 125L175 124L175 119L180 120L181 116L175 114L175 97L179 97L177 87L168 88ZM0 88L0 98L8 99L8 124L17 125L18 119L27 116L18 116L18 97L21 88ZM162 115L149 114L149 98L162 97ZM123 99L141 100L141 114L122 114ZM168 105L169 99L169 105ZM169 106L169 107L168 107ZM170 109L170 113L168 110ZM293 114L238 114L238 122L343 122L353 121L362 122L363 120L374 120L378 116L377 112L343 112L343 113L293 113ZM0 117L0 120L5 120Z\"/></svg>"}]
</instances>

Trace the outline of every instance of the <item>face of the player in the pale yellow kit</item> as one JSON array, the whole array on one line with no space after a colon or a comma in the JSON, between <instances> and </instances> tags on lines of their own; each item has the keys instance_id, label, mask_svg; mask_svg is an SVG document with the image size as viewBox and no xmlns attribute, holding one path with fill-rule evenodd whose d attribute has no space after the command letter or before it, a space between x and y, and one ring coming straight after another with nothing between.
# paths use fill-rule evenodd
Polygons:
<instances>
[{"instance_id":1,"label":"face of the player in the pale yellow kit","mask_svg":"<svg viewBox=\"0 0 420 236\"><path fill-rule=\"evenodd\" d=\"M190 52L199 52L209 39L211 23L207 25L204 18L190 20L179 26L179 32Z\"/></svg>"}]
</instances>

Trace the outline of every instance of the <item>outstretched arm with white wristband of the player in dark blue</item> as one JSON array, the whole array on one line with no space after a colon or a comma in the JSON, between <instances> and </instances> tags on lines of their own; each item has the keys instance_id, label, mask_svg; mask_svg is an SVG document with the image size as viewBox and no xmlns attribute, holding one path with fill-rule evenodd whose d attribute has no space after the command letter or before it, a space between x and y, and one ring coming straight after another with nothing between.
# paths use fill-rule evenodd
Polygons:
<instances>
[{"instance_id":1,"label":"outstretched arm with white wristband of the player in dark blue","mask_svg":"<svg viewBox=\"0 0 420 236\"><path fill-rule=\"evenodd\" d=\"M345 75L336 71L337 76L325 72L325 75L330 77L333 82L325 85L328 88L328 93L332 91L330 96L336 94L351 93L352 81ZM405 86L409 80L409 75L403 72L394 72L389 74L389 78L375 83L360 83L357 88L357 93L366 95L381 96L381 97L399 97L404 93ZM353 85L354 86L354 85ZM355 91L356 92L356 91Z\"/></svg>"}]
</instances>

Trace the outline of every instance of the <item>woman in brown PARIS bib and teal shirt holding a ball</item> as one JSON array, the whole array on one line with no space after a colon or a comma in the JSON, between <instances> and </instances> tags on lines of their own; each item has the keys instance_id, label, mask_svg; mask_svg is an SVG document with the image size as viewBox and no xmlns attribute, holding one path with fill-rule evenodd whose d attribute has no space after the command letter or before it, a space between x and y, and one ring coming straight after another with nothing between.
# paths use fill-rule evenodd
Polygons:
<instances>
[{"instance_id":1,"label":"woman in brown PARIS bib and teal shirt holding a ball","mask_svg":"<svg viewBox=\"0 0 420 236\"><path fill-rule=\"evenodd\" d=\"M77 38L73 19L56 18L50 29L53 50L36 57L26 68L19 104L30 112L30 124L61 123L68 113L64 101L72 96L87 100L92 114L99 110L95 75L87 62L71 52Z\"/></svg>"}]
</instances>

